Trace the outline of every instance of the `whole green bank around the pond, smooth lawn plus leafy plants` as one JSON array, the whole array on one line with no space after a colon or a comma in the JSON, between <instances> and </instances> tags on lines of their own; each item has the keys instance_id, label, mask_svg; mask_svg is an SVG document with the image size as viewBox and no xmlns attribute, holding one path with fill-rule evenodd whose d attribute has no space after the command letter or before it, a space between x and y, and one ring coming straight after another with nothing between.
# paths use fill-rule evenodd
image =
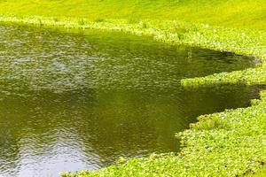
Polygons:
<instances>
[{"instance_id":1,"label":"whole green bank around the pond, smooth lawn plus leafy plants","mask_svg":"<svg viewBox=\"0 0 266 177\"><path fill-rule=\"evenodd\" d=\"M33 4L35 2L35 4ZM265 0L213 1L0 1L0 21L51 27L94 28L151 35L155 40L254 56L255 68L182 81L266 85ZM140 20L141 19L141 20ZM156 19L156 20L154 20ZM186 22L184 22L186 21ZM96 172L64 176L238 176L265 163L266 92L248 108L201 116L178 134L178 154L121 159ZM265 172L265 171L264 171ZM263 172L262 172L263 173Z\"/></svg>"}]
</instances>

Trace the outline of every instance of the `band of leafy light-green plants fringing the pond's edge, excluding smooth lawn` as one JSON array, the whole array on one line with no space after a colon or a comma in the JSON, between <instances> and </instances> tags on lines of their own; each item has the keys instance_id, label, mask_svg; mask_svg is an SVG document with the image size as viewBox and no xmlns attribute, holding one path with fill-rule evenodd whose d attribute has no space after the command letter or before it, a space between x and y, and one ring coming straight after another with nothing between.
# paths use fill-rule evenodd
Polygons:
<instances>
[{"instance_id":1,"label":"band of leafy light-green plants fringing the pond's edge, excluding smooth lawn","mask_svg":"<svg viewBox=\"0 0 266 177\"><path fill-rule=\"evenodd\" d=\"M144 20L129 23L127 20L112 19L90 21L87 19L18 18L0 15L0 21L49 27L121 31L133 35L150 35L155 40L173 44L230 50L237 54L260 58L262 63L255 68L243 71L217 73L202 78L186 79L181 83L184 87L199 87L219 82L266 85L266 52L264 49L266 33L261 31L209 27L176 20ZM151 158L133 158L128 162L121 160L119 164L98 172L84 171L78 175L179 174L192 176L199 173L200 176L206 176L206 174L236 176L255 173L265 163L263 155L266 151L263 141L265 141L266 90L261 92L261 100L254 100L252 104L248 108L200 116L198 123L192 124L191 129L179 134L184 148L178 155L154 155ZM254 124L253 127L250 127L250 123ZM254 147L250 147L248 143L250 141ZM242 155L243 157L239 157ZM63 176L68 175L74 174L63 174Z\"/></svg>"}]
</instances>

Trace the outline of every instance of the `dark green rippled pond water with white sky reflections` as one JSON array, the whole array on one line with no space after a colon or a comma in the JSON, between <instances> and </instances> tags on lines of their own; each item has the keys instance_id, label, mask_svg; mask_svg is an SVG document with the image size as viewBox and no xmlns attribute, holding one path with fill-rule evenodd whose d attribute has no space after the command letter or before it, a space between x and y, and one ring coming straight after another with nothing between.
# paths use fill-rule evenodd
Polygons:
<instances>
[{"instance_id":1,"label":"dark green rippled pond water with white sky reflections","mask_svg":"<svg viewBox=\"0 0 266 177\"><path fill-rule=\"evenodd\" d=\"M178 151L200 114L243 107L258 88L180 80L253 58L119 33L0 26L0 176L58 176L119 157Z\"/></svg>"}]
</instances>

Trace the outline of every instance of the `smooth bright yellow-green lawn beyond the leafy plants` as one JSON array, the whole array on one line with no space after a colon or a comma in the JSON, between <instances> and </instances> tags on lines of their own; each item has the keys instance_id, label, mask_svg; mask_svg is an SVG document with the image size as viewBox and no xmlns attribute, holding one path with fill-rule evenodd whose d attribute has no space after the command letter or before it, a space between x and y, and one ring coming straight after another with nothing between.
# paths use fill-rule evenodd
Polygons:
<instances>
[{"instance_id":1,"label":"smooth bright yellow-green lawn beyond the leafy plants","mask_svg":"<svg viewBox=\"0 0 266 177\"><path fill-rule=\"evenodd\" d=\"M1 0L0 12L80 19L178 19L264 29L265 0Z\"/></svg>"}]
</instances>

